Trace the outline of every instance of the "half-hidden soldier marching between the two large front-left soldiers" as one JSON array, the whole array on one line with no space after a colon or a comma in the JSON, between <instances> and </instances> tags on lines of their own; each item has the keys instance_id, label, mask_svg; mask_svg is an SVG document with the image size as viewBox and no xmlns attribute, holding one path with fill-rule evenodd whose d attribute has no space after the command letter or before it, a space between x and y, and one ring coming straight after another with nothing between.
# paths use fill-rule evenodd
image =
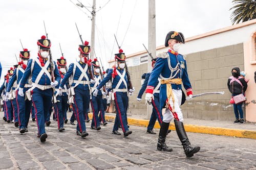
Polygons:
<instances>
[{"instance_id":1,"label":"half-hidden soldier marching between the two large front-left soldiers","mask_svg":"<svg viewBox=\"0 0 256 170\"><path fill-rule=\"evenodd\" d=\"M66 59L64 57L60 57L60 59L57 59L57 64L59 68L59 74L61 79L64 78L66 74ZM56 86L56 90L59 88L59 86ZM54 104L54 112L57 114L57 121L58 121L58 130L59 132L65 130L64 129L64 118L65 114L67 114L67 105L68 105L68 89L69 85L66 83L64 85L64 88L62 89L62 94L56 95L57 103ZM57 91L56 91L57 92Z\"/></svg>"}]
</instances>

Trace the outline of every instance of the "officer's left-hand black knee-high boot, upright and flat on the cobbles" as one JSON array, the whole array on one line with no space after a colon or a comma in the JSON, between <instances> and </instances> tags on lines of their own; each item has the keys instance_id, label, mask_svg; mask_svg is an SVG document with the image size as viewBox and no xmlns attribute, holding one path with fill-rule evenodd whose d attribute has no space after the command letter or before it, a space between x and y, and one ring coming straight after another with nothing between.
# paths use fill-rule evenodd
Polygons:
<instances>
[{"instance_id":1,"label":"officer's left-hand black knee-high boot, upright and flat on the cobbles","mask_svg":"<svg viewBox=\"0 0 256 170\"><path fill-rule=\"evenodd\" d=\"M159 136L158 136L158 143L157 143L157 150L159 150L159 151L162 151L162 150L167 151L167 152L173 151L172 148L168 148L167 145L165 144L165 138L166 138L167 131L169 128L169 124L170 123L162 122Z\"/></svg>"}]
</instances>

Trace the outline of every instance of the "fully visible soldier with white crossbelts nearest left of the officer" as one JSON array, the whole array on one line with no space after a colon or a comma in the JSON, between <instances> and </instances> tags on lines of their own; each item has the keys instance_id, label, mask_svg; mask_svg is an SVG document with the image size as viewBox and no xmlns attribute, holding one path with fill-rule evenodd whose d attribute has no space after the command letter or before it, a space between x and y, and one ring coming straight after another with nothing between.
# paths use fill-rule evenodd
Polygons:
<instances>
[{"instance_id":1,"label":"fully visible soldier with white crossbelts nearest left of the officer","mask_svg":"<svg viewBox=\"0 0 256 170\"><path fill-rule=\"evenodd\" d=\"M112 82L112 88L115 96L115 107L116 107L116 119L113 128L113 134L121 135L118 132L119 125L122 128L123 135L128 136L132 134L132 131L129 131L127 126L127 115L126 111L128 108L128 92L129 95L133 94L133 89L128 89L128 81L127 81L127 72L125 69L125 55L123 51L120 49L118 54L115 54L115 60L117 62L117 66L114 69L110 69L108 75L100 82L96 90L93 92L94 96L97 96L98 91L103 85L105 85L109 80Z\"/></svg>"}]
</instances>

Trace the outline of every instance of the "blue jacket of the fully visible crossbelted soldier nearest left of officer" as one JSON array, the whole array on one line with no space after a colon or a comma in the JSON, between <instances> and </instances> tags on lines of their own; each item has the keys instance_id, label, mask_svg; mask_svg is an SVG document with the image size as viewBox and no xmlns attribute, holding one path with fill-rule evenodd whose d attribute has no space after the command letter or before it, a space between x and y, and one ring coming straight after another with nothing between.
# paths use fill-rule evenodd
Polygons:
<instances>
[{"instance_id":1,"label":"blue jacket of the fully visible crossbelted soldier nearest left of officer","mask_svg":"<svg viewBox=\"0 0 256 170\"><path fill-rule=\"evenodd\" d=\"M120 68L116 68L121 74L123 74L123 69ZM110 69L108 72L108 75L106 75L106 77L100 82L100 84L98 85L97 89L99 90L103 85L105 85L109 80L112 80L112 73L113 73L113 69ZM115 78L113 78L113 82L112 82L112 89L116 88L117 83L119 82L120 77L117 75ZM126 81L126 84L128 86L128 81L127 81L127 72L124 76L124 80ZM122 82L121 85L119 86L119 89L128 89L128 87L125 87L124 83Z\"/></svg>"}]
</instances>

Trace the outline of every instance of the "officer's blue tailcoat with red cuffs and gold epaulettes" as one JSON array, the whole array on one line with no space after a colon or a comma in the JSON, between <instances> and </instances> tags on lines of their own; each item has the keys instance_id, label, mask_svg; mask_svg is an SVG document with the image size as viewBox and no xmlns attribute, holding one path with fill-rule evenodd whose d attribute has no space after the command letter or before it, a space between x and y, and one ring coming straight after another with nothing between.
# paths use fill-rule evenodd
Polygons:
<instances>
[{"instance_id":1,"label":"officer's blue tailcoat with red cuffs and gold epaulettes","mask_svg":"<svg viewBox=\"0 0 256 170\"><path fill-rule=\"evenodd\" d=\"M176 55L168 52L168 55L169 55L168 57L170 58L170 65L172 66L172 68L175 68L177 63L179 62L178 67L180 70L179 70L178 74L172 79L181 78L183 86L187 91L187 95L192 93L191 84L190 84L190 81L189 81L188 75L187 75L186 60L180 54L178 54L176 57ZM171 71L168 66L168 57L167 58L157 58L155 67L153 68L151 75L150 75L150 79L148 80L148 83L147 83L146 92L150 92L150 93L153 92L153 90L151 90L150 88L154 87L156 85L157 78L159 77L160 74L164 78L170 77ZM176 74L176 71L173 72L173 75L175 75L175 74ZM179 90L179 89L181 89L181 85L172 84L172 88ZM160 86L160 107L161 108L164 107L166 98L167 98L166 84L161 84L161 86Z\"/></svg>"}]
</instances>

